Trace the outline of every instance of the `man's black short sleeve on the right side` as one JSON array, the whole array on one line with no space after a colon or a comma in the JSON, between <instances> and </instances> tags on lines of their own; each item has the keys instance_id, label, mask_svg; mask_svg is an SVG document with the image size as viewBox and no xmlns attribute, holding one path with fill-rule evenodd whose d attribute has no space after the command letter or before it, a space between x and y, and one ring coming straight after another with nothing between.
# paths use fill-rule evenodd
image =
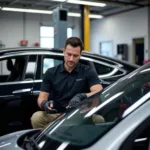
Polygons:
<instances>
[{"instance_id":1,"label":"man's black short sleeve on the right side","mask_svg":"<svg viewBox=\"0 0 150 150\"><path fill-rule=\"evenodd\" d=\"M101 80L98 78L97 73L92 68L88 68L88 70L86 71L86 79L88 81L89 87L101 83Z\"/></svg>"}]
</instances>

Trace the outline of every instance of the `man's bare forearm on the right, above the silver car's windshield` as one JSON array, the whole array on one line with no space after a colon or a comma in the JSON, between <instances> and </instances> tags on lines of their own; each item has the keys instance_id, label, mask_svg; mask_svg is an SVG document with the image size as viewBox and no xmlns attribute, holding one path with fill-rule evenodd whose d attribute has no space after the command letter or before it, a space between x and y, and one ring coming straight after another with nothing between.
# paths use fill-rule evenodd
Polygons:
<instances>
[{"instance_id":1,"label":"man's bare forearm on the right, above the silver car's windshield","mask_svg":"<svg viewBox=\"0 0 150 150\"><path fill-rule=\"evenodd\" d=\"M93 94L101 91L103 89L102 85L101 84L96 84L96 85L93 85L90 87L90 93L86 93L87 97L90 97L92 96Z\"/></svg>"}]
</instances>

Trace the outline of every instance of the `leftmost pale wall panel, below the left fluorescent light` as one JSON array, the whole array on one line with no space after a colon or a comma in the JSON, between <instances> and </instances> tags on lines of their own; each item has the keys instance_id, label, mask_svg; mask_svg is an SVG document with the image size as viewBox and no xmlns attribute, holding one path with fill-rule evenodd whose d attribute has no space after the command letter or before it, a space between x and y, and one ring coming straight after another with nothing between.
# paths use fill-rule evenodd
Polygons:
<instances>
[{"instance_id":1,"label":"leftmost pale wall panel, below the left fluorescent light","mask_svg":"<svg viewBox=\"0 0 150 150\"><path fill-rule=\"evenodd\" d=\"M22 13L0 12L0 41L9 47L18 47L23 39Z\"/></svg>"}]
</instances>

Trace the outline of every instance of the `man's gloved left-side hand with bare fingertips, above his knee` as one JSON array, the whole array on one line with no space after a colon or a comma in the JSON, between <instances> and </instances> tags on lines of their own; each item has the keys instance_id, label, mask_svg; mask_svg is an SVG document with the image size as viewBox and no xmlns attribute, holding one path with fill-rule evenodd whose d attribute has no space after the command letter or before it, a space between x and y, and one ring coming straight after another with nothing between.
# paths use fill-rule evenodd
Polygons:
<instances>
[{"instance_id":1,"label":"man's gloved left-side hand with bare fingertips, above his knee","mask_svg":"<svg viewBox=\"0 0 150 150\"><path fill-rule=\"evenodd\" d=\"M51 101L44 100L41 103L41 108L49 114L57 113L57 110L53 109L53 107L54 107L54 101L52 100Z\"/></svg>"}]
</instances>

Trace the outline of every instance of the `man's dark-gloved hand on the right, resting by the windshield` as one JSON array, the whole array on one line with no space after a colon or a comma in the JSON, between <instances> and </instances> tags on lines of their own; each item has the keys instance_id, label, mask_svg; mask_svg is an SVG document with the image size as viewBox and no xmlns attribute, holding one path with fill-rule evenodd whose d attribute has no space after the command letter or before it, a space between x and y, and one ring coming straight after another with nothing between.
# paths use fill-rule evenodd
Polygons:
<instances>
[{"instance_id":1,"label":"man's dark-gloved hand on the right, resting by the windshield","mask_svg":"<svg viewBox=\"0 0 150 150\"><path fill-rule=\"evenodd\" d=\"M82 100L86 99L87 95L85 93L76 94L70 101L67 108L76 107Z\"/></svg>"}]
</instances>

